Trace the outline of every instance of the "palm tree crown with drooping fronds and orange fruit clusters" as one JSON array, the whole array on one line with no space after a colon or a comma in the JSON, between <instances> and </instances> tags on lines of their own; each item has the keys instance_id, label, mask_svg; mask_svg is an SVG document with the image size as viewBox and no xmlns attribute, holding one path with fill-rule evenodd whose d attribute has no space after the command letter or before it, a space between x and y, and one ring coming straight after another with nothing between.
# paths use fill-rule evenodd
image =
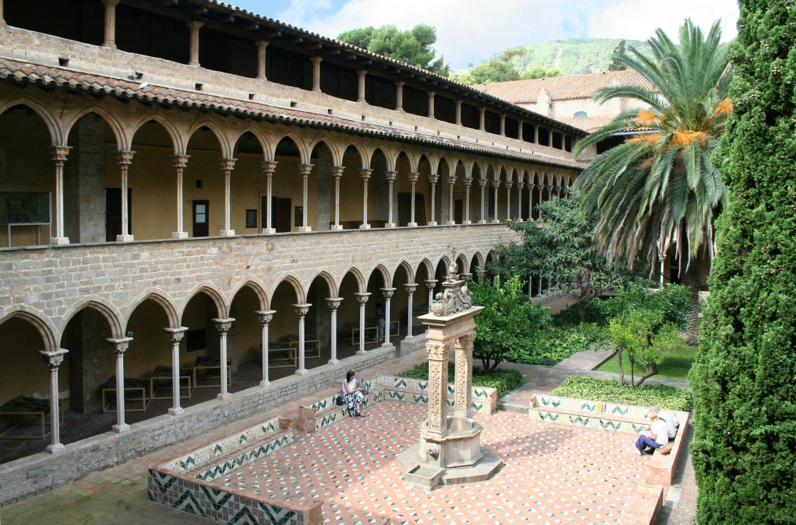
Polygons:
<instances>
[{"instance_id":1,"label":"palm tree crown with drooping fronds and orange fruit clusters","mask_svg":"<svg viewBox=\"0 0 796 525\"><path fill-rule=\"evenodd\" d=\"M584 211L599 213L595 241L608 259L626 259L631 267L637 256L651 266L662 262L671 246L681 263L690 264L700 251L712 260L713 219L727 204L711 161L732 111L728 45L720 44L719 22L705 37L686 20L680 45L661 29L655 35L647 41L651 56L633 47L615 55L651 88L609 86L595 94L600 102L630 97L649 109L622 112L576 146L580 154L616 133L635 132L600 154L575 183Z\"/></svg>"}]
</instances>

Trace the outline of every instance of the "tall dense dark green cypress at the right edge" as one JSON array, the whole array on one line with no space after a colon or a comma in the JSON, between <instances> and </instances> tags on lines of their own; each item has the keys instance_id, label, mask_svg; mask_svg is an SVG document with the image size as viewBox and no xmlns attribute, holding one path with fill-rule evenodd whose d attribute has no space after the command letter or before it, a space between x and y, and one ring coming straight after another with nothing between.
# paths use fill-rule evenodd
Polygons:
<instances>
[{"instance_id":1,"label":"tall dense dark green cypress at the right edge","mask_svg":"<svg viewBox=\"0 0 796 525\"><path fill-rule=\"evenodd\" d=\"M796 7L741 0L730 193L690 375L700 525L796 519Z\"/></svg>"}]
</instances>

